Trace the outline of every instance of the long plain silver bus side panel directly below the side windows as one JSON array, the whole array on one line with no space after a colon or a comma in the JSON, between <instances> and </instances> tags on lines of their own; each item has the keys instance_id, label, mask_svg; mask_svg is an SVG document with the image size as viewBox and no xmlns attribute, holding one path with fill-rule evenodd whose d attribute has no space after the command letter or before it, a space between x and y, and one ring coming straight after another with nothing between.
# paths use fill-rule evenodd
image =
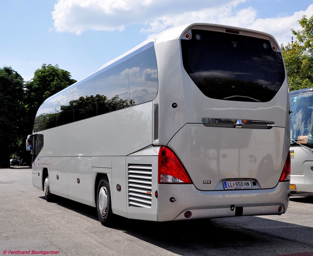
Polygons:
<instances>
[{"instance_id":1,"label":"long plain silver bus side panel directly below the side windows","mask_svg":"<svg viewBox=\"0 0 313 256\"><path fill-rule=\"evenodd\" d=\"M40 156L131 154L152 144L152 110L147 102L45 130Z\"/></svg>"}]
</instances>

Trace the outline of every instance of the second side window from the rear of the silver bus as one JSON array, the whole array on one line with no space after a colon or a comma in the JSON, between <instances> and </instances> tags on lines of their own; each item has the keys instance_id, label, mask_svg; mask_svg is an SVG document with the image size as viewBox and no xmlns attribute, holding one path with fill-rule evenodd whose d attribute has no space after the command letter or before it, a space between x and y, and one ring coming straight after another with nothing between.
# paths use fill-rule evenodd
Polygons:
<instances>
[{"instance_id":1,"label":"second side window from the rear of the silver bus","mask_svg":"<svg viewBox=\"0 0 313 256\"><path fill-rule=\"evenodd\" d=\"M98 115L130 106L127 60L96 76Z\"/></svg>"}]
</instances>

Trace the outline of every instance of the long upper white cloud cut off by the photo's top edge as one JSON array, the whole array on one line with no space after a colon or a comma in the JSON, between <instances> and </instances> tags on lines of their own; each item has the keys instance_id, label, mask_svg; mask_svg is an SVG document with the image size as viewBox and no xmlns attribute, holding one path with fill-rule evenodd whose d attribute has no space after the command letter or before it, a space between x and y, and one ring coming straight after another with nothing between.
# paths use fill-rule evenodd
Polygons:
<instances>
[{"instance_id":1,"label":"long upper white cloud cut off by the photo's top edge","mask_svg":"<svg viewBox=\"0 0 313 256\"><path fill-rule=\"evenodd\" d=\"M159 17L176 17L177 22L181 22L184 21L184 17L178 17L182 13L188 14L192 12L193 18L197 19L197 13L201 13L203 9L208 7L212 10L214 8L225 9L245 1L58 0L58 3L54 5L52 18L54 19L54 29L56 31L81 34L87 29L104 31L124 30L127 25L150 23L153 20L158 20ZM162 29L171 26L175 20L170 19L168 23L161 22L163 25L160 28ZM186 21L183 23L186 23Z\"/></svg>"}]
</instances>

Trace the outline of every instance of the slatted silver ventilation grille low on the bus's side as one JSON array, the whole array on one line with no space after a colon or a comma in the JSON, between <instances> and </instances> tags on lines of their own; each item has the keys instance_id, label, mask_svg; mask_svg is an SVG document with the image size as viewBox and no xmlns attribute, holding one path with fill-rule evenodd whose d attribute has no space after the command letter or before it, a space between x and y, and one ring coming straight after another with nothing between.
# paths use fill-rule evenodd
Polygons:
<instances>
[{"instance_id":1,"label":"slatted silver ventilation grille low on the bus's side","mask_svg":"<svg viewBox=\"0 0 313 256\"><path fill-rule=\"evenodd\" d=\"M152 165L128 165L128 206L151 208Z\"/></svg>"}]
</instances>

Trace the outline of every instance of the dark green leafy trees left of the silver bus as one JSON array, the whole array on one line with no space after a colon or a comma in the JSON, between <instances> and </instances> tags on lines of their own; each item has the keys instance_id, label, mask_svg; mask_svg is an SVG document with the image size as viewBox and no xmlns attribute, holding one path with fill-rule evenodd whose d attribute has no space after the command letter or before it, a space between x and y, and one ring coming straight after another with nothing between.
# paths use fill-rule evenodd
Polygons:
<instances>
[{"instance_id":1,"label":"dark green leafy trees left of the silver bus","mask_svg":"<svg viewBox=\"0 0 313 256\"><path fill-rule=\"evenodd\" d=\"M28 158L25 140L33 132L36 112L53 94L76 82L58 65L43 64L26 84L11 67L0 68L0 167L9 167L10 156Z\"/></svg>"}]
</instances>

